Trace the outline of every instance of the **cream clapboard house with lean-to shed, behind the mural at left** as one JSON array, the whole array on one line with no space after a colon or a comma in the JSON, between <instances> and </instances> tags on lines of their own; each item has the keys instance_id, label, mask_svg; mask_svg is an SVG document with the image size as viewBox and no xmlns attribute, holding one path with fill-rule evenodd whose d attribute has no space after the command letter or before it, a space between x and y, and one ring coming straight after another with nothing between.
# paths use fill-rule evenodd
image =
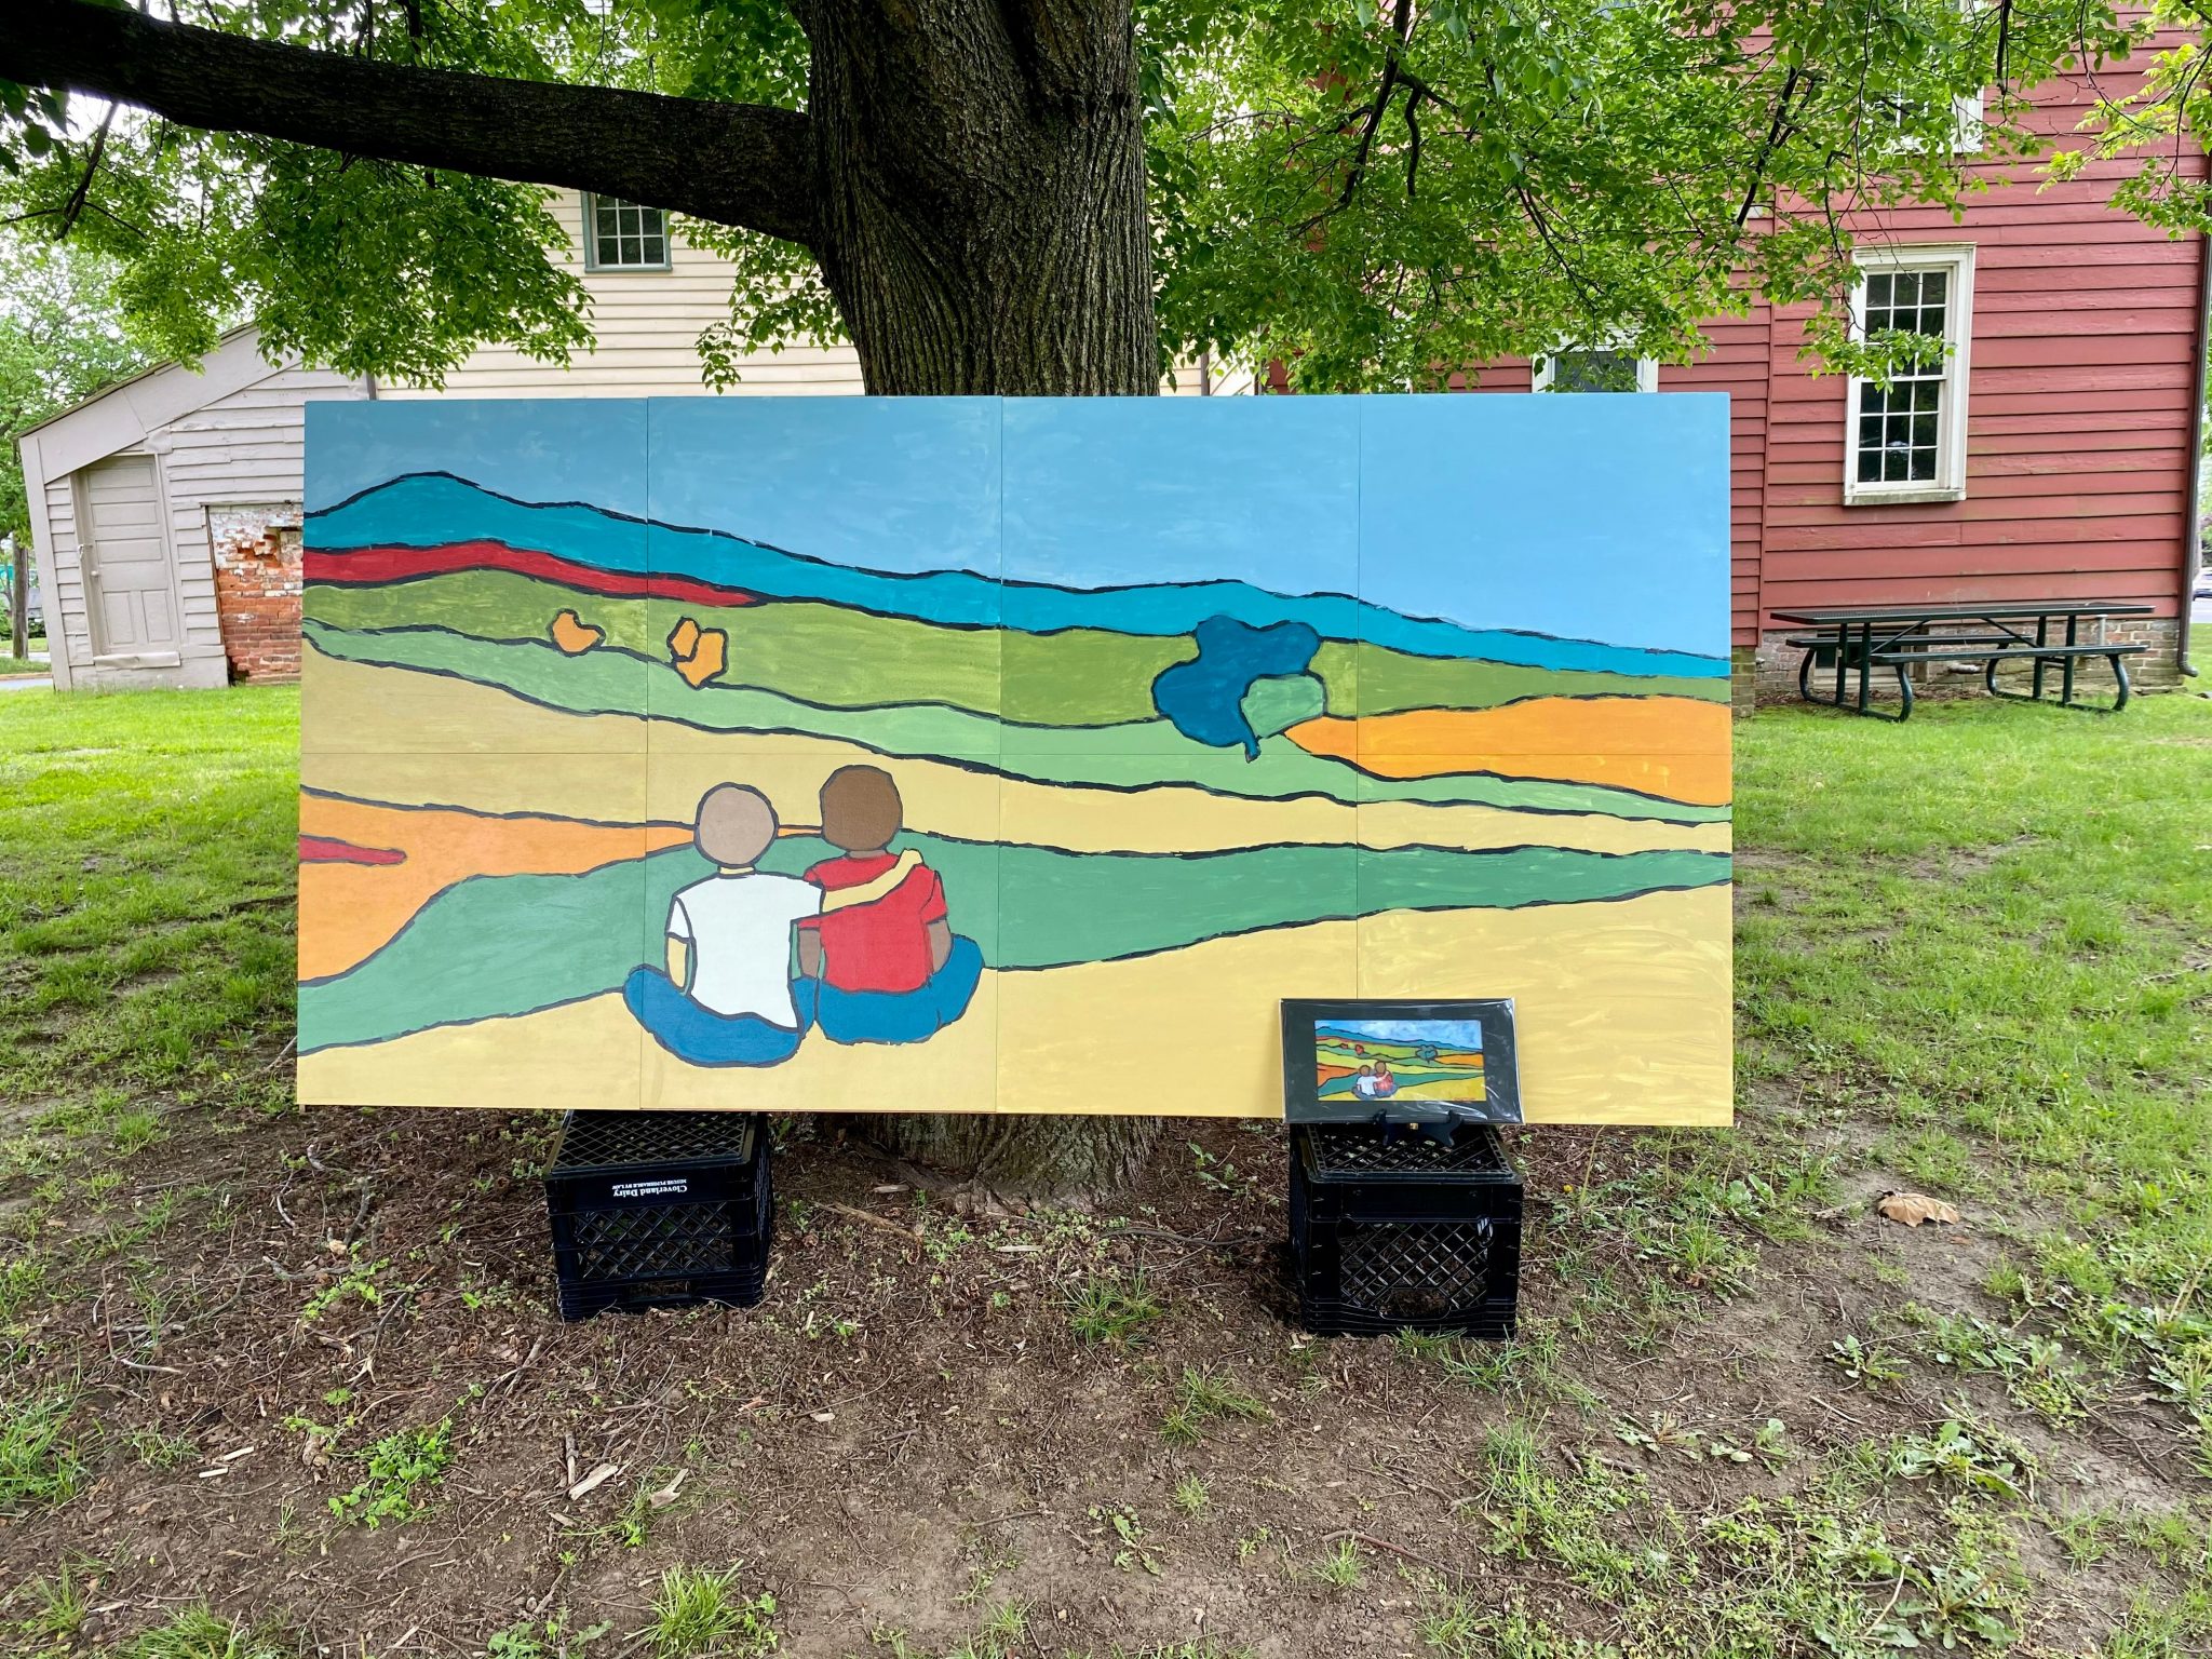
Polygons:
<instances>
[{"instance_id":1,"label":"cream clapboard house with lean-to shed, behind the mural at left","mask_svg":"<svg viewBox=\"0 0 2212 1659\"><path fill-rule=\"evenodd\" d=\"M697 338L730 265L670 237L657 208L562 192L568 268L595 349L566 367L482 347L442 389L270 365L243 327L195 367L108 387L22 438L53 684L223 686L299 668L301 434L310 398L644 398L706 394ZM734 396L858 394L847 345L743 365ZM1186 372L1179 392L1250 392Z\"/></svg>"}]
</instances>

